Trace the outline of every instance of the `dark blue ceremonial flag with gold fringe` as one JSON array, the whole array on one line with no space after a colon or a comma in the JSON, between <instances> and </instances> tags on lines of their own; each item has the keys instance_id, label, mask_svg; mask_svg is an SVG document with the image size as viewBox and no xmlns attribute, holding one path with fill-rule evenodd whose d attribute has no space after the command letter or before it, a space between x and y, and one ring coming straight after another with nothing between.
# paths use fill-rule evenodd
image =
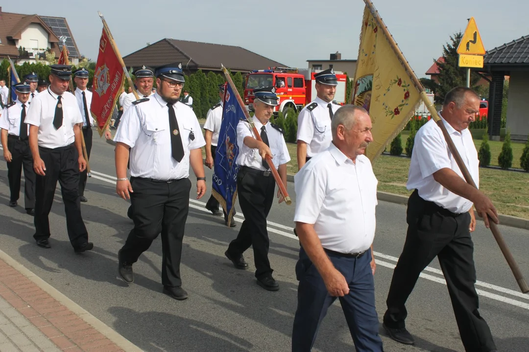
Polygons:
<instances>
[{"instance_id":1,"label":"dark blue ceremonial flag with gold fringe","mask_svg":"<svg viewBox=\"0 0 529 352\"><path fill-rule=\"evenodd\" d=\"M237 198L237 173L235 163L239 155L237 145L237 125L246 120L244 111L237 101L229 84L224 89L221 130L218 132L218 145L215 150L212 194L228 214L228 226L232 220L233 204Z\"/></svg>"}]
</instances>

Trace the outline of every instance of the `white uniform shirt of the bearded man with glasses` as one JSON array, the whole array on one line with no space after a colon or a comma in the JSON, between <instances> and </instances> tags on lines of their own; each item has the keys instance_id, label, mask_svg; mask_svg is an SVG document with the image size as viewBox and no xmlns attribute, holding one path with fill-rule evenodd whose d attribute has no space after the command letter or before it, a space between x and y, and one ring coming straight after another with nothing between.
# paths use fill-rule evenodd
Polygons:
<instances>
[{"instance_id":1,"label":"white uniform shirt of the bearded man with glasses","mask_svg":"<svg viewBox=\"0 0 529 352\"><path fill-rule=\"evenodd\" d=\"M130 173L134 177L169 180L189 176L190 150L206 145L193 109L176 102L178 129L184 147L184 158L178 163L172 158L169 108L158 93L149 101L132 104L117 128L114 141L131 147ZM140 122L141 120L141 122ZM191 140L193 132L195 138Z\"/></svg>"}]
</instances>

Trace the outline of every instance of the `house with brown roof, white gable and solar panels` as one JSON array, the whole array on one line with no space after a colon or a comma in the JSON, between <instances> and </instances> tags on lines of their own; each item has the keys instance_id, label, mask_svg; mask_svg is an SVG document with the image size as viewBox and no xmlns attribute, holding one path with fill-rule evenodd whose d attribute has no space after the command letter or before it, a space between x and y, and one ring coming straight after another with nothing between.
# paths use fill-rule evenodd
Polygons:
<instances>
[{"instance_id":1,"label":"house with brown roof, white gable and solar panels","mask_svg":"<svg viewBox=\"0 0 529 352\"><path fill-rule=\"evenodd\" d=\"M66 18L2 12L0 6L0 60L9 56L18 64L35 62L44 59L47 50L58 59L60 36L67 37L70 62L79 63L79 50Z\"/></svg>"}]
</instances>

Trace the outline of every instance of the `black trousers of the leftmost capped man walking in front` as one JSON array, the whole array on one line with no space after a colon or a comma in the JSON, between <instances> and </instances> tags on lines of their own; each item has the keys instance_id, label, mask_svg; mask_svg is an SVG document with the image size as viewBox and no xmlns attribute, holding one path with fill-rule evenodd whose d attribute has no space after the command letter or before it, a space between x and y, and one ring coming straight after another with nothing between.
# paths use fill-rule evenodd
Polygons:
<instances>
[{"instance_id":1,"label":"black trousers of the leftmost capped man walking in front","mask_svg":"<svg viewBox=\"0 0 529 352\"><path fill-rule=\"evenodd\" d=\"M35 207L35 171L29 140L19 140L18 136L7 137L7 148L11 152L11 162L7 163L7 179L9 180L10 201L16 202L20 197L20 180L24 168L24 207Z\"/></svg>"}]
</instances>

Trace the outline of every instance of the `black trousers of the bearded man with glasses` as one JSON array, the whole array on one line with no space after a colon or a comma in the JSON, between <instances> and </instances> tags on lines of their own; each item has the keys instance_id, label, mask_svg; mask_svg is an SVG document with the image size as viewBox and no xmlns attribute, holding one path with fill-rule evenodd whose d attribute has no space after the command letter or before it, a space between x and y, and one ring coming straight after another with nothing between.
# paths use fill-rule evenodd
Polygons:
<instances>
[{"instance_id":1,"label":"black trousers of the bearded man with glasses","mask_svg":"<svg viewBox=\"0 0 529 352\"><path fill-rule=\"evenodd\" d=\"M161 233L162 284L181 286L180 259L191 181L182 178L167 183L131 177L131 185L134 229L121 249L121 256L124 261L135 263Z\"/></svg>"}]
</instances>

